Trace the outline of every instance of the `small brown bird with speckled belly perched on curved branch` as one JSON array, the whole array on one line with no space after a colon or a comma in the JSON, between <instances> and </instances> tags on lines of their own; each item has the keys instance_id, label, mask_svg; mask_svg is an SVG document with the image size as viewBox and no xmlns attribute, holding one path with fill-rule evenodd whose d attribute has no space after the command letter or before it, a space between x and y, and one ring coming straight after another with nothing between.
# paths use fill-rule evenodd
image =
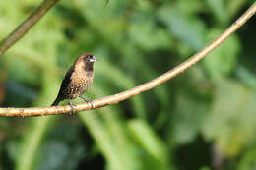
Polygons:
<instances>
[{"instance_id":1,"label":"small brown bird with speckled belly perched on curved branch","mask_svg":"<svg viewBox=\"0 0 256 170\"><path fill-rule=\"evenodd\" d=\"M85 93L88 87L93 83L95 77L94 63L96 61L97 58L92 54L81 54L66 73L60 86L58 96L51 106L56 106L60 101L67 99L72 109L71 112L74 113L75 105L72 104L70 100L81 97L86 102L91 103L91 101L85 96L82 96L82 94ZM93 104L92 106L94 107Z\"/></svg>"}]
</instances>

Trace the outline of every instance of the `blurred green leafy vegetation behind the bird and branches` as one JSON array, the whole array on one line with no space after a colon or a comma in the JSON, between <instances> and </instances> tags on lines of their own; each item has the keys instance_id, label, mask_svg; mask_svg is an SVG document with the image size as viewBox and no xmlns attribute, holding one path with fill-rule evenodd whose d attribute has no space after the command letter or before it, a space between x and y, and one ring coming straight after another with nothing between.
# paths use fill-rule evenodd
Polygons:
<instances>
[{"instance_id":1,"label":"blurred green leafy vegetation behind the bird and branches","mask_svg":"<svg viewBox=\"0 0 256 170\"><path fill-rule=\"evenodd\" d=\"M252 2L62 0L0 57L1 106L50 105L83 52L100 59L89 98L140 85L202 49ZM0 1L0 39L39 3ZM255 28L254 17L198 65L125 102L1 118L0 170L255 169Z\"/></svg>"}]
</instances>

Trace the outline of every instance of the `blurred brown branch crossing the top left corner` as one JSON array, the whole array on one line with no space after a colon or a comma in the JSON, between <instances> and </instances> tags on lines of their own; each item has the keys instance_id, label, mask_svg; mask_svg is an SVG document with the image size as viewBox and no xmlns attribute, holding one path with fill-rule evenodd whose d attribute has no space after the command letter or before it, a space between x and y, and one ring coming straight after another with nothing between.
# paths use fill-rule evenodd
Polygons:
<instances>
[{"instance_id":1,"label":"blurred brown branch crossing the top left corner","mask_svg":"<svg viewBox=\"0 0 256 170\"><path fill-rule=\"evenodd\" d=\"M20 40L58 1L59 0L44 0L28 19L0 42L0 56Z\"/></svg>"}]
</instances>

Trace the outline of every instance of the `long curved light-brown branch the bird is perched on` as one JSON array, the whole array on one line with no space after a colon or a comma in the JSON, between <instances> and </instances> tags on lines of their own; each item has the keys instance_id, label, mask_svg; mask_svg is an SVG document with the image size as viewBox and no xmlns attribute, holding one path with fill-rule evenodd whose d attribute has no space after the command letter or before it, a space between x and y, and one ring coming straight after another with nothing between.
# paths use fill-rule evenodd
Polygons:
<instances>
[{"instance_id":1,"label":"long curved light-brown branch the bird is perched on","mask_svg":"<svg viewBox=\"0 0 256 170\"><path fill-rule=\"evenodd\" d=\"M247 22L254 14L256 13L256 2L252 4L252 6L229 28L227 28L224 33L214 40L210 45L205 47L200 52L196 53L188 60L183 62L182 64L176 66L174 69L160 75L160 77L147 82L143 85L136 86L129 90L120 92L115 95L106 96L103 98L99 98L93 101L95 104L95 108L103 107L110 104L115 104L125 99L131 98L135 95L138 95L144 91L150 90L151 88L158 86L171 78L179 75L180 73L184 72L198 61L203 59L208 53L213 51L216 47L221 45L224 40L230 36L234 31L240 28L245 22ZM83 110L92 109L91 104L88 103L81 103L78 104L75 108L77 112ZM69 113L71 108L69 105L64 106L54 106L54 107L31 107L31 108L0 108L0 116L44 116L44 115L56 115L62 113Z\"/></svg>"}]
</instances>

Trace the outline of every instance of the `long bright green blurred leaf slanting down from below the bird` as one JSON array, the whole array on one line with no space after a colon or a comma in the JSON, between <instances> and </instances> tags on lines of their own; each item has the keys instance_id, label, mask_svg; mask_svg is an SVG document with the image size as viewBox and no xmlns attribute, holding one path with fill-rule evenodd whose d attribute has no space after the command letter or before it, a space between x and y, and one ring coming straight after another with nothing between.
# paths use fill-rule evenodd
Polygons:
<instances>
[{"instance_id":1,"label":"long bright green blurred leaf slanting down from below the bird","mask_svg":"<svg viewBox=\"0 0 256 170\"><path fill-rule=\"evenodd\" d=\"M105 112L110 111L110 112ZM103 108L100 110L102 114L112 114L111 109ZM83 112L82 112L83 114ZM86 126L88 126L89 131L96 140L96 143L107 160L107 165L112 170L133 170L141 168L141 161L133 144L126 141L127 139L120 138L125 136L124 134L119 134L118 139L113 139L111 136L111 130L103 124L103 122L96 117L96 111L87 111L83 115L80 114L80 118L83 120ZM108 120L109 121L109 120ZM118 123L115 123L115 125ZM123 129L117 129L116 131L123 131ZM115 137L118 136L118 132ZM127 143L127 144L125 144Z\"/></svg>"}]
</instances>

